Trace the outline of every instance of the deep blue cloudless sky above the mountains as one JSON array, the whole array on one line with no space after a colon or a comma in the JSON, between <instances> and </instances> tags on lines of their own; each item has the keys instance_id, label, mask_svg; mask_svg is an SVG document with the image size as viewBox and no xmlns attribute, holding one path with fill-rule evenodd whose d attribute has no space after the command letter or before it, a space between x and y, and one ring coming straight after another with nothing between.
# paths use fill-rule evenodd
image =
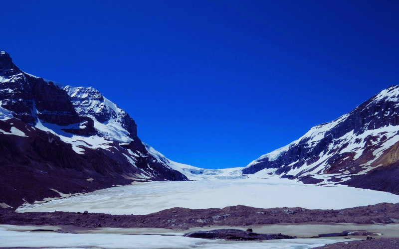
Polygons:
<instances>
[{"instance_id":1,"label":"deep blue cloudless sky above the mountains","mask_svg":"<svg viewBox=\"0 0 399 249\"><path fill-rule=\"evenodd\" d=\"M3 0L0 49L168 158L245 166L399 84L399 1Z\"/></svg>"}]
</instances>

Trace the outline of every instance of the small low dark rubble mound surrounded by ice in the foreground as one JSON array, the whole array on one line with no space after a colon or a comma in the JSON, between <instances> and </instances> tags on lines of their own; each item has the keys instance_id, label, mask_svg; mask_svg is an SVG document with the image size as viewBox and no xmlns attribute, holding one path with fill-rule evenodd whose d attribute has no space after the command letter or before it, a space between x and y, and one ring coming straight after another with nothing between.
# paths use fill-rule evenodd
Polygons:
<instances>
[{"instance_id":1,"label":"small low dark rubble mound surrounded by ice in the foreground","mask_svg":"<svg viewBox=\"0 0 399 249\"><path fill-rule=\"evenodd\" d=\"M210 240L226 240L226 241L265 241L265 240L282 240L296 239L295 236L282 234L257 234L252 229L247 231L239 229L216 229L211 231L196 231L187 233L184 237L210 239Z\"/></svg>"}]
</instances>

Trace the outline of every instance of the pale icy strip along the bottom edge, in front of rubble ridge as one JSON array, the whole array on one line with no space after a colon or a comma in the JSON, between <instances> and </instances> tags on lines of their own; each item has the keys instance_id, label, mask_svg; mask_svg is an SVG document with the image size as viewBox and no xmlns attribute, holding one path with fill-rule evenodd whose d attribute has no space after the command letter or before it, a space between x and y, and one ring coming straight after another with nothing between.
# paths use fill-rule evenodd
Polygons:
<instances>
[{"instance_id":1,"label":"pale icy strip along the bottom edge, in front of rubble ridge","mask_svg":"<svg viewBox=\"0 0 399 249\"><path fill-rule=\"evenodd\" d=\"M12 230L14 229L17 229L17 226L13 226ZM168 235L20 232L11 231L8 226L0 225L0 247L41 249L308 249L348 241L342 238L313 238L271 240L257 243L187 238L177 233Z\"/></svg>"}]
</instances>

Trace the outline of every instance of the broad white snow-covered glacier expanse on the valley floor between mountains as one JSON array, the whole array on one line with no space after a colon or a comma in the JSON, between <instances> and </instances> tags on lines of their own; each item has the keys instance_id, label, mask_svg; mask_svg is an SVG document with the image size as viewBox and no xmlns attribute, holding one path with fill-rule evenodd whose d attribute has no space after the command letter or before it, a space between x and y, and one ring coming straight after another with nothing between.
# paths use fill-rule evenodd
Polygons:
<instances>
[{"instance_id":1,"label":"broad white snow-covered glacier expanse on the valley floor between mountains","mask_svg":"<svg viewBox=\"0 0 399 249\"><path fill-rule=\"evenodd\" d=\"M145 215L165 209L302 207L342 209L389 202L399 196L343 185L322 187L296 180L234 179L214 181L136 182L42 204L24 204L17 212L83 212Z\"/></svg>"}]
</instances>

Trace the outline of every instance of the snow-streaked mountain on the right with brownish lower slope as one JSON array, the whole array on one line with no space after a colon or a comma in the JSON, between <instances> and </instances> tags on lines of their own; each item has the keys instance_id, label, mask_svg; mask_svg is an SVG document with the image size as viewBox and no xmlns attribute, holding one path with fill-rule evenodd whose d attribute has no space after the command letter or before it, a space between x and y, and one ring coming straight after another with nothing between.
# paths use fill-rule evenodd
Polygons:
<instances>
[{"instance_id":1,"label":"snow-streaked mountain on the right with brownish lower slope","mask_svg":"<svg viewBox=\"0 0 399 249\"><path fill-rule=\"evenodd\" d=\"M399 193L399 85L349 114L312 127L299 139L264 154L242 172L346 184Z\"/></svg>"}]
</instances>

